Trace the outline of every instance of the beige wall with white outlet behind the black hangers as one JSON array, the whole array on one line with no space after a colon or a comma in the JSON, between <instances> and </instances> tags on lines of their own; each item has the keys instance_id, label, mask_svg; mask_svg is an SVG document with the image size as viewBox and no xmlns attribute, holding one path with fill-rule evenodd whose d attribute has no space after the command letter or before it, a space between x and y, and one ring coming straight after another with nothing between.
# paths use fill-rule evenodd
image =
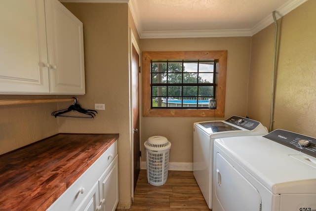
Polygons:
<instances>
[{"instance_id":1,"label":"beige wall with white outlet behind the black hangers","mask_svg":"<svg viewBox=\"0 0 316 211\"><path fill-rule=\"evenodd\" d=\"M119 207L131 203L131 149L129 110L128 5L65 3L83 23L86 107L104 103L90 121L60 119L61 132L119 133Z\"/></svg>"}]
</instances>

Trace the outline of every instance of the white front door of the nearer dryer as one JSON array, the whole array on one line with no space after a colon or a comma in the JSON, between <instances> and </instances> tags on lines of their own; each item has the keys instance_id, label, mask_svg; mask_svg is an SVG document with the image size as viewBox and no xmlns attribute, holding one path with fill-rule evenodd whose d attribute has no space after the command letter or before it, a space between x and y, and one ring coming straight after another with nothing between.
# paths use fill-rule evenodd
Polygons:
<instances>
[{"instance_id":1,"label":"white front door of the nearer dryer","mask_svg":"<svg viewBox=\"0 0 316 211\"><path fill-rule=\"evenodd\" d=\"M216 153L215 159L213 210L260 211L261 197L258 190L220 153Z\"/></svg>"}]
</instances>

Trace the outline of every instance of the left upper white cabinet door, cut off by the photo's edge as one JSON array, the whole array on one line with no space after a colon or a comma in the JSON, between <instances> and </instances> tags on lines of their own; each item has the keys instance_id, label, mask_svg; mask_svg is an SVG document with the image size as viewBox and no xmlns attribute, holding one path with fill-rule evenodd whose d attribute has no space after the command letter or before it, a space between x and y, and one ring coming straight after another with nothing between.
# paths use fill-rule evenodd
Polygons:
<instances>
[{"instance_id":1,"label":"left upper white cabinet door, cut off by the photo's edge","mask_svg":"<svg viewBox=\"0 0 316 211\"><path fill-rule=\"evenodd\" d=\"M43 0L0 0L0 94L49 93Z\"/></svg>"}]
</instances>

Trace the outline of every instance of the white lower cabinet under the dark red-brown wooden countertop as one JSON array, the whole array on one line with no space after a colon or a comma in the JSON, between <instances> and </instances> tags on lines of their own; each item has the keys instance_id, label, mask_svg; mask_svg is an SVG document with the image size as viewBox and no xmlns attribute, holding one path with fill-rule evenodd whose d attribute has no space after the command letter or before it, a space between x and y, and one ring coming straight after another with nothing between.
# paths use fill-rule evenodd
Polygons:
<instances>
[{"instance_id":1,"label":"white lower cabinet under the dark red-brown wooden countertop","mask_svg":"<svg viewBox=\"0 0 316 211\"><path fill-rule=\"evenodd\" d=\"M118 141L47 211L115 211L118 205Z\"/></svg>"}]
</instances>

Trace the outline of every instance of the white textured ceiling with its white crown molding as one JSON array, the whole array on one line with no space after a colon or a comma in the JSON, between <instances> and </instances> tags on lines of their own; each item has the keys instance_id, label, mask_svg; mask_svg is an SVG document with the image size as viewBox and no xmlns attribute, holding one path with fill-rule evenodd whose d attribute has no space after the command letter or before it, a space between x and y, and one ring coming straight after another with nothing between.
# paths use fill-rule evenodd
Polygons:
<instances>
[{"instance_id":1,"label":"white textured ceiling with its white crown molding","mask_svg":"<svg viewBox=\"0 0 316 211\"><path fill-rule=\"evenodd\" d=\"M60 0L128 3L140 38L252 36L307 0Z\"/></svg>"}]
</instances>

